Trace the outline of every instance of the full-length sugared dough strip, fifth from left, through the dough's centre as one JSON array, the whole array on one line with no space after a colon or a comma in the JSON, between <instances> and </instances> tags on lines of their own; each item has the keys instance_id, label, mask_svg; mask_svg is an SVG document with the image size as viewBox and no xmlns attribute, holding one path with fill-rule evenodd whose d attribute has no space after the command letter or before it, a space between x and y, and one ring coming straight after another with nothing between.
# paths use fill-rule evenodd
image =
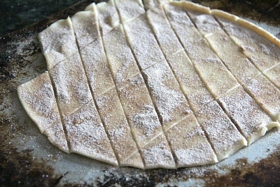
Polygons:
<instances>
[{"instance_id":1,"label":"full-length sugared dough strip, fifth from left, through the dough's centre","mask_svg":"<svg viewBox=\"0 0 280 187\"><path fill-rule=\"evenodd\" d=\"M127 0L116 0L116 7L122 20L124 20L126 16L125 14L122 14L123 9L128 9L128 4L126 4L126 2ZM130 10L134 12L133 8ZM188 115L192 116L194 114L190 110L189 104L180 90L180 86L168 66L160 47L158 46L157 40L151 31L147 20L145 19L145 15L143 14L132 21L123 22L123 24L126 36L130 41L130 47L133 50L140 67L142 68L142 73L145 81L147 82L149 92L157 107L168 142L171 142L170 139L175 142L173 144L170 143L171 150L179 149L178 146L181 143L183 146L180 146L180 149L184 150L185 154L190 153L190 149L186 144L186 142L190 140L181 139L180 141L182 142L177 142L175 140L177 135L174 134L175 137L172 137L167 134L168 129L173 126L175 122L180 121L180 119ZM153 51L153 53L142 53L142 50ZM197 129L200 129L200 131L203 132L197 123L196 118L195 122L196 123L190 124L189 121L184 121L184 125L185 127L191 127L194 125ZM182 132L186 132L186 130L183 130ZM203 148L200 148L200 154L204 157L204 160L202 159L193 162L193 160L195 160L192 157L193 154L189 154L184 157L184 159L175 160L177 167L201 165L205 162L216 163L218 161L217 156L211 148L205 134L200 133L198 136L199 138L196 139L197 144L204 146ZM180 158L179 155L176 155L175 153L174 155L177 158ZM187 160L188 157L189 160Z\"/></svg>"}]
</instances>

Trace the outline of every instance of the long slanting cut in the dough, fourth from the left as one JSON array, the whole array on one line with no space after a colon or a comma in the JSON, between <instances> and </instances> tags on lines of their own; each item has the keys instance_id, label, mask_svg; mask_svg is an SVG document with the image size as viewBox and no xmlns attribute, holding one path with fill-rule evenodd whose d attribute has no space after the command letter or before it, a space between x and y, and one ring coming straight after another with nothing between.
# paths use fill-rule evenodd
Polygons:
<instances>
[{"instance_id":1,"label":"long slanting cut in the dough, fourth from the left","mask_svg":"<svg viewBox=\"0 0 280 187\"><path fill-rule=\"evenodd\" d=\"M114 7L115 7L116 10L117 10L117 13L118 13L118 16L119 16L119 20L120 20L120 25L121 25L121 27L123 28L125 37L128 38L127 32L126 32L126 30L124 29L124 26L123 26L123 20L122 20L122 18L121 18L119 9L116 7L115 1L112 0L112 2L113 2ZM145 14L145 13L144 13L144 14ZM141 14L141 15L143 15L143 14ZM140 15L140 16L141 16L141 15ZM140 17L140 16L138 16L138 17ZM138 17L137 17L137 18L138 18ZM136 19L137 19L137 18L136 18ZM135 55L135 53L134 53L134 51L133 51L133 49L132 49L132 46L131 46L131 44L130 44L129 41L127 41L127 42L128 42L128 44L129 44L129 48L131 49L131 52L132 52L133 57L134 57L134 59L135 59L135 62L137 62L137 66L138 66L138 68L139 68L139 70L140 70L140 73L141 73L142 77L144 78L145 76L143 76L142 69L141 69L140 64L139 64L139 62L138 62L138 60L137 60L137 58L136 58L136 55ZM154 64L153 64L153 65L154 65ZM151 66L152 66L152 65L151 65ZM147 88L147 90L148 90L148 92L149 92L149 95L150 95L150 97L151 97L151 100L152 100L152 103L153 103L153 105L154 105L154 108L155 108L155 110L156 110L158 119L160 119L160 121L162 121L162 120L161 120L161 117L160 117L160 114L159 114L159 110L158 110L158 108L157 108L157 106L156 106L156 104L155 104L155 101L154 101L153 97L151 96L151 91L150 91L150 89L148 88L147 80L144 79L144 82L145 82L146 88ZM162 125L162 122L161 122L161 125ZM163 134L165 135L166 140L168 140L167 135L166 135L166 132L165 132L164 129L163 129ZM161 133L158 134L156 137L158 137L159 135L161 135ZM156 137L154 137L153 139L155 139ZM151 142L151 141L149 141L149 142ZM175 154L174 154L174 151L173 151L173 149L171 148L169 141L167 141L167 142L168 142L169 149L171 150L173 160L175 161Z\"/></svg>"}]
</instances>

